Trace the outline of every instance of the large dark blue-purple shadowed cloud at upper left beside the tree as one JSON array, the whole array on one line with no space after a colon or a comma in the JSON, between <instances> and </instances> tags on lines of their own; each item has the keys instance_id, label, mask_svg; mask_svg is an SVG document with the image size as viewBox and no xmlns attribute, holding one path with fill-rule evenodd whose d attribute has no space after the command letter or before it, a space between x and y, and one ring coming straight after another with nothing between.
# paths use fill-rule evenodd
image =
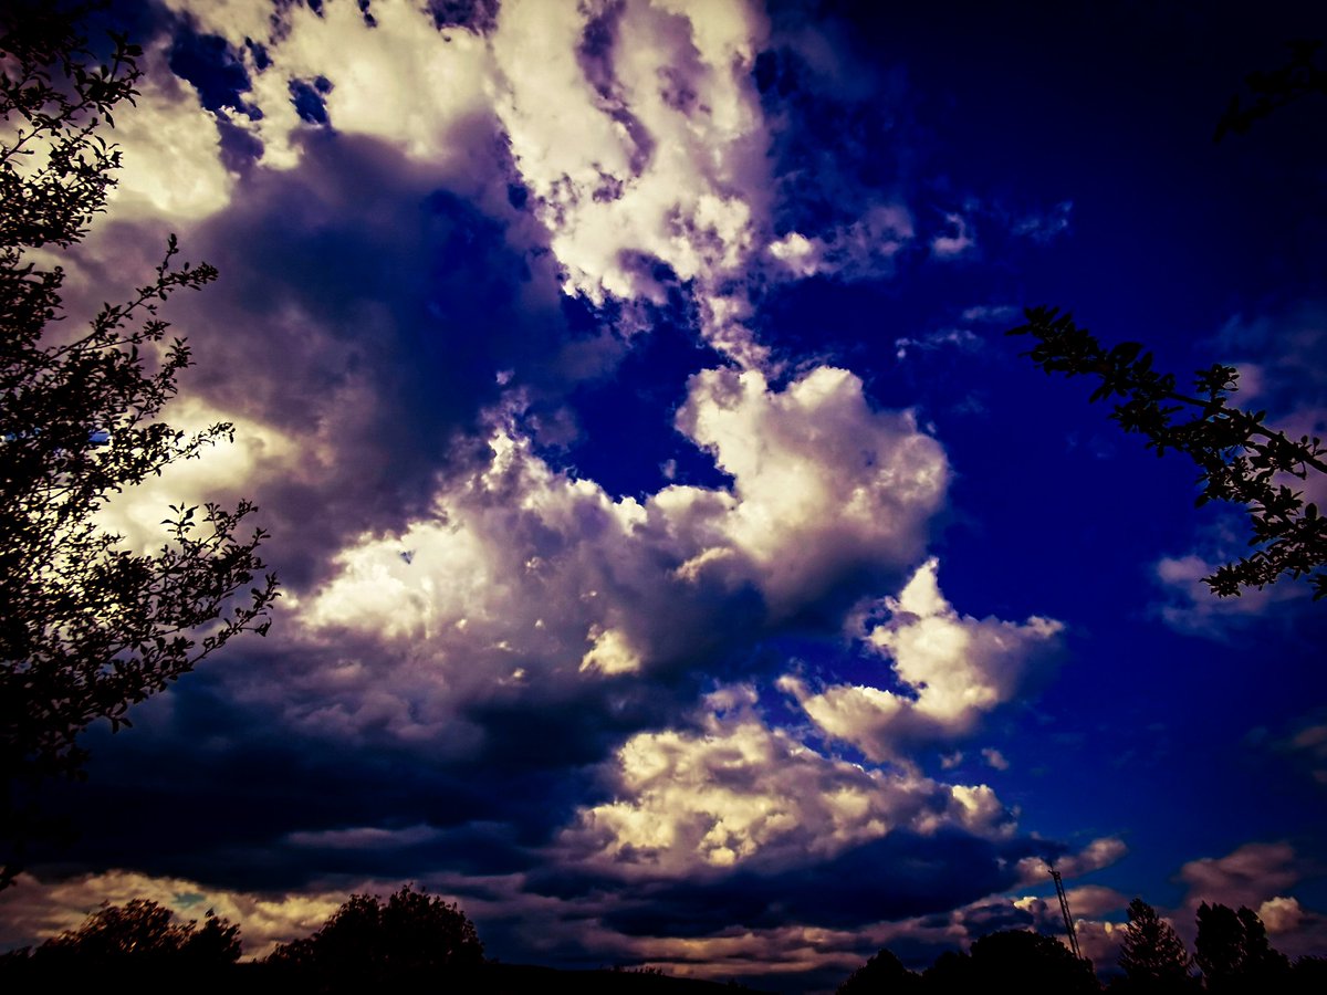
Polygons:
<instances>
[{"instance_id":1,"label":"large dark blue-purple shadowed cloud at upper left beside the tree","mask_svg":"<svg viewBox=\"0 0 1327 995\"><path fill-rule=\"evenodd\" d=\"M244 491L295 585L341 537L421 513L498 374L548 383L565 329L539 247L508 240L515 215L483 214L372 139L304 147L293 170L247 174L192 233L222 280L173 309L198 361L190 389L297 447Z\"/></svg>"}]
</instances>

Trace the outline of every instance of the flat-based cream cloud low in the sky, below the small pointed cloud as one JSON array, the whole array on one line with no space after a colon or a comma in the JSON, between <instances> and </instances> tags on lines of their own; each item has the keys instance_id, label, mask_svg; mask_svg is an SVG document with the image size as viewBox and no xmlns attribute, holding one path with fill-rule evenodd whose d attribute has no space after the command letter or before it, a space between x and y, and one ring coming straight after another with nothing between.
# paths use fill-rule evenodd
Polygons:
<instances>
[{"instance_id":1,"label":"flat-based cream cloud low in the sky, below the small pointed cloud","mask_svg":"<svg viewBox=\"0 0 1327 995\"><path fill-rule=\"evenodd\" d=\"M747 687L723 689L697 731L629 739L608 764L614 800L581 809L559 845L614 876L694 878L831 857L897 829L1007 829L990 788L824 756L766 724L755 698Z\"/></svg>"}]
</instances>

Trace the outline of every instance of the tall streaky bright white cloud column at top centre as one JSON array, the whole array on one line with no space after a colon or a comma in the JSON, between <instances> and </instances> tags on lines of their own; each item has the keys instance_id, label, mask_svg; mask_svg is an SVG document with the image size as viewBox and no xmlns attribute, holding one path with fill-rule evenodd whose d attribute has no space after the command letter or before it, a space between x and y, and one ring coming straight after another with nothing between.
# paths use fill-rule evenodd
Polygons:
<instances>
[{"instance_id":1,"label":"tall streaky bright white cloud column at top centre","mask_svg":"<svg viewBox=\"0 0 1327 995\"><path fill-rule=\"evenodd\" d=\"M750 70L764 19L746 4L504 3L496 110L552 232L567 293L661 302L649 260L697 280L706 333L750 352L740 275L763 224L768 145Z\"/></svg>"}]
</instances>

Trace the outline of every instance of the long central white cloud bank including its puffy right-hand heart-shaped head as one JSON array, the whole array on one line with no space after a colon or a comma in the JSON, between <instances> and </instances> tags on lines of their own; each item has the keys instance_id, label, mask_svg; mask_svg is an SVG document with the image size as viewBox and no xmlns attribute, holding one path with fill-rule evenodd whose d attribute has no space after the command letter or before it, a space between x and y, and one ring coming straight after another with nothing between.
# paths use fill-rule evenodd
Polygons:
<instances>
[{"instance_id":1,"label":"long central white cloud bank including its puffy right-hand heart-shaped head","mask_svg":"<svg viewBox=\"0 0 1327 995\"><path fill-rule=\"evenodd\" d=\"M751 370L693 378L678 425L731 491L614 500L495 418L488 460L441 484L431 515L356 537L295 600L283 638L329 654L307 694L283 694L300 724L386 723L418 740L499 687L649 677L713 641L729 598L759 592L763 614L744 625L763 626L864 568L897 573L946 482L938 443L906 414L873 411L835 369L783 391ZM364 641L381 649L372 674L356 663Z\"/></svg>"}]
</instances>

